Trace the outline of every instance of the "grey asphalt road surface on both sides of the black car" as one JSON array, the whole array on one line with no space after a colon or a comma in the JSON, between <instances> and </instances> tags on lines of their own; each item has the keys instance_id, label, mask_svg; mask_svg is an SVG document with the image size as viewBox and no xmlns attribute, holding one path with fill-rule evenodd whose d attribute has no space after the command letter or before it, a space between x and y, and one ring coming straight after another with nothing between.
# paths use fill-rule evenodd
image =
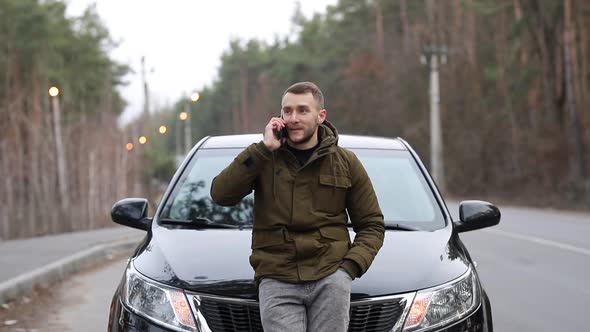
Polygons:
<instances>
[{"instance_id":1,"label":"grey asphalt road surface on both sides of the black car","mask_svg":"<svg viewBox=\"0 0 590 332\"><path fill-rule=\"evenodd\" d=\"M456 204L449 208L458 215ZM499 226L461 235L491 298L496 331L588 330L590 215L501 211ZM55 331L104 331L124 265L116 259L67 280L52 295L54 310L40 319Z\"/></svg>"}]
</instances>

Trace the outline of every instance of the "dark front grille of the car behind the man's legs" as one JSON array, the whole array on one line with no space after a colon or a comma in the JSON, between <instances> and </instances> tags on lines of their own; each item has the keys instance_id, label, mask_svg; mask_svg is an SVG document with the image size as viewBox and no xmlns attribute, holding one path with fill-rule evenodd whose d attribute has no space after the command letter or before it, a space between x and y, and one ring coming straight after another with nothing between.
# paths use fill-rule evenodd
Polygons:
<instances>
[{"instance_id":1,"label":"dark front grille of the car behind the man's legs","mask_svg":"<svg viewBox=\"0 0 590 332\"><path fill-rule=\"evenodd\" d=\"M406 302L402 299L353 301L348 331L391 331L404 311ZM204 295L195 296L194 300L195 307L203 315L212 332L262 332L258 302Z\"/></svg>"}]
</instances>

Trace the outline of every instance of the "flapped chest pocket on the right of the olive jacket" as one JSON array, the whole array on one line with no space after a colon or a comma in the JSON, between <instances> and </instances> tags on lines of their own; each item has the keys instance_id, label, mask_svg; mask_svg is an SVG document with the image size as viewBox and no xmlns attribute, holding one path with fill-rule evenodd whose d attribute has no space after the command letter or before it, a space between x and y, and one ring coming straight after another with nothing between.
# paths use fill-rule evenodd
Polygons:
<instances>
[{"instance_id":1,"label":"flapped chest pocket on the right of the olive jacket","mask_svg":"<svg viewBox=\"0 0 590 332\"><path fill-rule=\"evenodd\" d=\"M341 214L346 208L346 192L352 186L350 177L320 174L319 183L313 190L314 210L329 214Z\"/></svg>"}]
</instances>

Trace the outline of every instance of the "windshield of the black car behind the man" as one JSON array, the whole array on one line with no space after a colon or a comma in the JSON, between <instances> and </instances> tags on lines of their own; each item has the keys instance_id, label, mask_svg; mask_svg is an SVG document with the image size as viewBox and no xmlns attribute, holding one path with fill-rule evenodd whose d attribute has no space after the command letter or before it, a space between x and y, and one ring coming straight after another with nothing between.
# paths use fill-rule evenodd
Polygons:
<instances>
[{"instance_id":1,"label":"windshield of the black car behind the man","mask_svg":"<svg viewBox=\"0 0 590 332\"><path fill-rule=\"evenodd\" d=\"M194 220L249 226L254 194L232 207L213 202L211 181L241 149L201 149L187 165L166 200L160 219ZM388 225L422 230L445 226L444 217L416 162L407 151L352 149L367 170Z\"/></svg>"}]
</instances>

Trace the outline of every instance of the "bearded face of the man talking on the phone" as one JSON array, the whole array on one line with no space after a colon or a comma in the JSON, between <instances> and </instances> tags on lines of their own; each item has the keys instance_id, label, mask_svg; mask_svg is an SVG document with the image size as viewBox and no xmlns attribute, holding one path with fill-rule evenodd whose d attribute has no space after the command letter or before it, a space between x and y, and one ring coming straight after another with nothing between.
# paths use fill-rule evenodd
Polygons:
<instances>
[{"instance_id":1,"label":"bearded face of the man talking on the phone","mask_svg":"<svg viewBox=\"0 0 590 332\"><path fill-rule=\"evenodd\" d=\"M283 96L281 107L291 143L303 147L310 141L314 142L319 125L326 119L326 110L319 109L311 92L305 94L288 92Z\"/></svg>"}]
</instances>

